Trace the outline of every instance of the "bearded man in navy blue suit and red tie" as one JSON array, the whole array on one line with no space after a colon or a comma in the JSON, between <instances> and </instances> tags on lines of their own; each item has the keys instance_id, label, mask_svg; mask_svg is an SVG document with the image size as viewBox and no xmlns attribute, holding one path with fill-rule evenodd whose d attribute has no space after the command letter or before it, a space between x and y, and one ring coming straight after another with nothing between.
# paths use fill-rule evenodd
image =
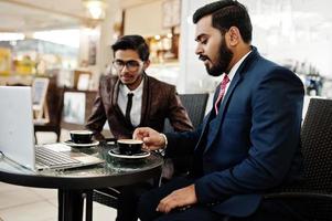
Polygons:
<instances>
[{"instance_id":1,"label":"bearded man in navy blue suit and red tie","mask_svg":"<svg viewBox=\"0 0 332 221\"><path fill-rule=\"evenodd\" d=\"M263 199L301 180L300 126L303 85L291 71L261 57L251 22L237 1L206 4L193 15L195 53L207 73L222 75L214 105L194 131L133 136L150 150L193 155L190 176L143 194L147 220L300 220L300 204Z\"/></svg>"}]
</instances>

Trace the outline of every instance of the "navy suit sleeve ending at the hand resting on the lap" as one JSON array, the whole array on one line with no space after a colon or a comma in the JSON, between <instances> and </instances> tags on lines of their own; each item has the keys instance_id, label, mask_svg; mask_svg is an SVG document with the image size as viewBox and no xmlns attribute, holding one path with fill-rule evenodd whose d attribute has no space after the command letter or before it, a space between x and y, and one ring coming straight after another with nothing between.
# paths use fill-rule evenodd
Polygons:
<instances>
[{"instance_id":1,"label":"navy suit sleeve ending at the hand resting on the lap","mask_svg":"<svg viewBox=\"0 0 332 221\"><path fill-rule=\"evenodd\" d=\"M232 168L195 181L199 202L259 193L282 182L300 143L303 85L291 72L274 70L253 91L250 146Z\"/></svg>"}]
</instances>

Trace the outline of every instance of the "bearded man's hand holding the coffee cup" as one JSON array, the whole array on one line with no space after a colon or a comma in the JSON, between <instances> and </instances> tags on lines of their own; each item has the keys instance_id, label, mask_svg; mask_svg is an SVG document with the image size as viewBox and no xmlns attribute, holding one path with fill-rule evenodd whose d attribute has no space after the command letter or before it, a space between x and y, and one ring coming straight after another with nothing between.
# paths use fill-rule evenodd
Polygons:
<instances>
[{"instance_id":1,"label":"bearded man's hand holding the coffee cup","mask_svg":"<svg viewBox=\"0 0 332 221\"><path fill-rule=\"evenodd\" d=\"M162 135L150 127L139 127L135 129L133 139L140 139L144 143L143 148L148 150L156 150L163 148L165 140Z\"/></svg>"}]
</instances>

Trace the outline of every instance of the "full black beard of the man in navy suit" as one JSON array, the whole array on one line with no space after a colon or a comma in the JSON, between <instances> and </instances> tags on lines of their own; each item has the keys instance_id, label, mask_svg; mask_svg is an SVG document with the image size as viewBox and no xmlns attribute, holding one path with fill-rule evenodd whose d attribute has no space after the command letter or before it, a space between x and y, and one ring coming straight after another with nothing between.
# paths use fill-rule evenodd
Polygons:
<instances>
[{"instance_id":1,"label":"full black beard of the man in navy suit","mask_svg":"<svg viewBox=\"0 0 332 221\"><path fill-rule=\"evenodd\" d=\"M227 48L225 38L223 38L219 46L219 55L218 55L217 64L213 65L212 67L208 67L207 65L205 66L208 75L221 76L223 73L228 71L227 67L232 59L233 59L233 52Z\"/></svg>"}]
</instances>

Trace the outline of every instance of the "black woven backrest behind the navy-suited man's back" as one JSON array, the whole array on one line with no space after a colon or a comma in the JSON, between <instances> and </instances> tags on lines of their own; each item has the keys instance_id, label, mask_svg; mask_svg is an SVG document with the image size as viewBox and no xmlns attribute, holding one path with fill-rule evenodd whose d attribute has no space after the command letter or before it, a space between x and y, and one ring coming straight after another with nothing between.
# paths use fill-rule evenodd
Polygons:
<instances>
[{"instance_id":1,"label":"black woven backrest behind the navy-suited man's back","mask_svg":"<svg viewBox=\"0 0 332 221\"><path fill-rule=\"evenodd\" d=\"M332 99L310 99L301 143L306 188L332 193Z\"/></svg>"}]
</instances>

